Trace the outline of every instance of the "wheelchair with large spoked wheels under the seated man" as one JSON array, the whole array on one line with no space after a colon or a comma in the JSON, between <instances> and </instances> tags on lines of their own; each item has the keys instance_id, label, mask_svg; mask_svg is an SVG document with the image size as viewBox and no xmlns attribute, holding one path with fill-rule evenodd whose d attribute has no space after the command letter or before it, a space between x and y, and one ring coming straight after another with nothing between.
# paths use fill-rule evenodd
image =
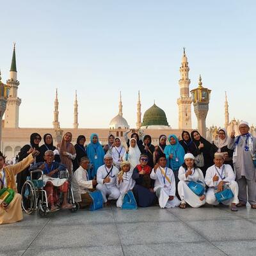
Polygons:
<instances>
[{"instance_id":1,"label":"wheelchair with large spoked wheels under the seated man","mask_svg":"<svg viewBox=\"0 0 256 256\"><path fill-rule=\"evenodd\" d=\"M46 218L51 211L47 202L47 193L44 189L43 175L42 170L30 172L30 179L26 180L21 189L21 205L27 214L37 211L41 218ZM79 209L79 204L74 200L74 194L71 188L72 179L68 170L60 171L59 178L68 179L68 203L74 205L70 211L76 212Z\"/></svg>"}]
</instances>

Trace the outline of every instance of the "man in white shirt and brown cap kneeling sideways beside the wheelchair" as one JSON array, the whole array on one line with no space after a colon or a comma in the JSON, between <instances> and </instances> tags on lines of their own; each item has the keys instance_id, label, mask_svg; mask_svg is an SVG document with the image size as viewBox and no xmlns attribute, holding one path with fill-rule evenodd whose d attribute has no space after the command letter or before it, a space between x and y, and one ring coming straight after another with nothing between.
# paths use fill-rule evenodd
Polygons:
<instances>
[{"instance_id":1,"label":"man in white shirt and brown cap kneeling sideways beside the wheelchair","mask_svg":"<svg viewBox=\"0 0 256 256\"><path fill-rule=\"evenodd\" d=\"M80 196L79 204L81 207L92 204L90 192L94 191L93 186L95 187L97 185L97 180L89 180L87 172L89 164L90 159L88 157L81 157L80 166L74 173L78 185L78 193Z\"/></svg>"}]
</instances>

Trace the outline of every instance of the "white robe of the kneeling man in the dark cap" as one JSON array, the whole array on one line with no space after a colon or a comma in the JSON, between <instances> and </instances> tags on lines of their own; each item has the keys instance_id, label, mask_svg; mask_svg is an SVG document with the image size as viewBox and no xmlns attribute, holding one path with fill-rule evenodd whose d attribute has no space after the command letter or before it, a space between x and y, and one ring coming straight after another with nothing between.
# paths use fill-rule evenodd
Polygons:
<instances>
[{"instance_id":1,"label":"white robe of the kneeling man in the dark cap","mask_svg":"<svg viewBox=\"0 0 256 256\"><path fill-rule=\"evenodd\" d=\"M164 173L166 173L166 177L169 178L170 182L168 182L168 180L164 178L160 167L157 168L156 172L152 170L152 172L150 173L150 178L155 180L154 191L156 192L157 189L160 189L159 196L157 195L159 200L159 206L161 208L177 207L180 205L180 200L177 198L177 196L175 196L175 177L172 169L165 167L162 168L162 170ZM173 200L169 200L169 196L174 196Z\"/></svg>"}]
</instances>

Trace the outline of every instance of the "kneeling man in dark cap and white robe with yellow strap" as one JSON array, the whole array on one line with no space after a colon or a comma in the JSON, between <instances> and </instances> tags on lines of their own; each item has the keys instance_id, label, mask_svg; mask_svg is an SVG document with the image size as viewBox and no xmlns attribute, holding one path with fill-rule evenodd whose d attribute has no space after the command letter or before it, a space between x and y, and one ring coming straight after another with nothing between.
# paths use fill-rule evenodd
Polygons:
<instances>
[{"instance_id":1,"label":"kneeling man in dark cap and white robe with yellow strap","mask_svg":"<svg viewBox=\"0 0 256 256\"><path fill-rule=\"evenodd\" d=\"M175 196L175 177L172 169L166 167L166 157L159 157L154 170L150 173L150 178L155 181L154 191L159 200L161 208L177 207L180 200Z\"/></svg>"}]
</instances>

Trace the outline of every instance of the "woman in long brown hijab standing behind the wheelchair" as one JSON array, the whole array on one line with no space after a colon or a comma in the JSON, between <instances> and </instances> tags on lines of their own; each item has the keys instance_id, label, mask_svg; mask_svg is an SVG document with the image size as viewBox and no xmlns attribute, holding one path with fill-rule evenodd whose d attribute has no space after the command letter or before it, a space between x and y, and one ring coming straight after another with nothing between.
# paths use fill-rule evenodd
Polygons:
<instances>
[{"instance_id":1,"label":"woman in long brown hijab standing behind the wheelchair","mask_svg":"<svg viewBox=\"0 0 256 256\"><path fill-rule=\"evenodd\" d=\"M68 173L71 174L73 171L72 160L76 158L76 149L71 143L72 133L66 132L60 141L60 159L61 163L65 164L68 169Z\"/></svg>"}]
</instances>

